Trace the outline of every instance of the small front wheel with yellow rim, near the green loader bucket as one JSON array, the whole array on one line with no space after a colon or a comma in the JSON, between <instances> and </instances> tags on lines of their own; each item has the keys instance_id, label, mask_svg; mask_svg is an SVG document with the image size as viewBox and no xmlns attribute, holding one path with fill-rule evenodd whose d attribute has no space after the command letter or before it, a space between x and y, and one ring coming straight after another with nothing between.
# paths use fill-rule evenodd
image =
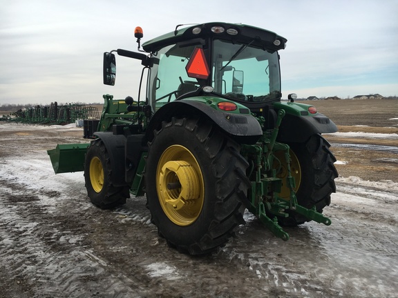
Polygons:
<instances>
[{"instance_id":1,"label":"small front wheel with yellow rim, near the green loader bucket","mask_svg":"<svg viewBox=\"0 0 398 298\"><path fill-rule=\"evenodd\" d=\"M111 209L126 203L130 197L129 186L114 186L111 179L111 162L101 139L91 142L84 163L84 180L91 202L101 209Z\"/></svg>"}]
</instances>

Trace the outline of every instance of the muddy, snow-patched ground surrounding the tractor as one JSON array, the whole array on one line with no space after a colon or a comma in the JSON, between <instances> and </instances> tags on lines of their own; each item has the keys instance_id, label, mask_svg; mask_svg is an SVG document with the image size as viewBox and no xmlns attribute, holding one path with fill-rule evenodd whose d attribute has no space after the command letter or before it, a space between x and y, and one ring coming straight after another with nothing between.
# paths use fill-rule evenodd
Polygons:
<instances>
[{"instance_id":1,"label":"muddy, snow-patched ground surrounding the tractor","mask_svg":"<svg viewBox=\"0 0 398 298\"><path fill-rule=\"evenodd\" d=\"M144 198L99 210L81 172L53 174L46 150L85 142L82 129L0 123L0 297L398 297L398 103L357 102L310 102L341 132L384 134L325 136L332 225L285 242L247 213L205 257L168 248Z\"/></svg>"}]
</instances>

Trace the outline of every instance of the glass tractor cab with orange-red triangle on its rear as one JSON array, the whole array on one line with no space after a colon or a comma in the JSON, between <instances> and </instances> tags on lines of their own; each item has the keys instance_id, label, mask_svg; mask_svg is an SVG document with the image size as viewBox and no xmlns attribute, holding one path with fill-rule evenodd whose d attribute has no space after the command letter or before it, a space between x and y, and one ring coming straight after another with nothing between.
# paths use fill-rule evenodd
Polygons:
<instances>
[{"instance_id":1,"label":"glass tractor cab with orange-red triangle on its rear","mask_svg":"<svg viewBox=\"0 0 398 298\"><path fill-rule=\"evenodd\" d=\"M136 37L140 42L142 33ZM206 95L256 110L280 101L277 51L285 48L286 41L274 32L240 24L177 27L143 43L142 52L149 53L146 60L134 53L151 69L146 104L158 110L171 101Z\"/></svg>"}]
</instances>

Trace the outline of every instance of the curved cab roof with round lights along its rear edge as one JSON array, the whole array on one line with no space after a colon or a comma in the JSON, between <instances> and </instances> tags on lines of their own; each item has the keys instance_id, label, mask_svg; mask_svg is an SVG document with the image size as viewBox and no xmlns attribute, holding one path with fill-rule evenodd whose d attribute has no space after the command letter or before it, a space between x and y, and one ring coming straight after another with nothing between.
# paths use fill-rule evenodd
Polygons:
<instances>
[{"instance_id":1,"label":"curved cab roof with round lights along its rear edge","mask_svg":"<svg viewBox=\"0 0 398 298\"><path fill-rule=\"evenodd\" d=\"M189 43L193 39L214 37L216 39L231 40L236 43L252 43L253 46L274 52L283 50L287 42L287 39L272 31L240 23L212 22L178 29L179 26L173 32L146 41L142 44L142 48L146 52L156 52L164 46L180 41Z\"/></svg>"}]
</instances>

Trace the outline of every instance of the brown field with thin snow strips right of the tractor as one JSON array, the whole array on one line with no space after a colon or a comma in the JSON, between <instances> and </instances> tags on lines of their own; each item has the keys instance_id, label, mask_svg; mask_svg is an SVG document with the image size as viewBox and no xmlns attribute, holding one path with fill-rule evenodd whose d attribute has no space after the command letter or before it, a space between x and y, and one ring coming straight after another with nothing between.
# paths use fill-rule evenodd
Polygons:
<instances>
[{"instance_id":1,"label":"brown field with thin snow strips right of the tractor","mask_svg":"<svg viewBox=\"0 0 398 298\"><path fill-rule=\"evenodd\" d=\"M313 105L323 115L337 124L339 132L370 132L398 134L398 100L328 100L300 101ZM332 152L338 161L336 164L340 177L357 176L363 180L392 180L398 182L397 153L359 148L341 148L333 143L372 144L379 146L398 146L397 139L372 139L358 137L335 137L325 135L332 143Z\"/></svg>"}]
</instances>

